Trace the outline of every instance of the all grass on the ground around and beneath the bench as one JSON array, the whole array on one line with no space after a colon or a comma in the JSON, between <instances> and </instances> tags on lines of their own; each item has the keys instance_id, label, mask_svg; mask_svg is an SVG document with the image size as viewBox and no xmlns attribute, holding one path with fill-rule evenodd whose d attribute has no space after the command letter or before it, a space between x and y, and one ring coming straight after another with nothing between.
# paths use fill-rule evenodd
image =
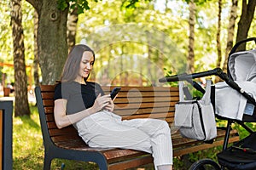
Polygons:
<instances>
[{"instance_id":1,"label":"all grass on the ground around and beneath the bench","mask_svg":"<svg viewBox=\"0 0 256 170\"><path fill-rule=\"evenodd\" d=\"M13 169L19 170L41 170L44 165L44 144L42 139L41 127L39 122L37 107L31 106L31 116L14 117L13 119ZM249 123L250 127L254 124ZM240 131L241 139L247 136L247 133L236 127ZM221 146L209 150L201 150L199 152L189 154L189 161L194 162L202 158L211 158L217 161L216 155ZM183 170L187 169L184 165L182 158L174 158L174 169ZM64 168L63 168L64 167ZM51 169L68 169L68 170L81 170L89 169L96 170L98 167L95 163L86 163L83 161L68 161L61 159L54 159L52 161ZM140 170L152 170L152 167L139 168Z\"/></svg>"}]
</instances>

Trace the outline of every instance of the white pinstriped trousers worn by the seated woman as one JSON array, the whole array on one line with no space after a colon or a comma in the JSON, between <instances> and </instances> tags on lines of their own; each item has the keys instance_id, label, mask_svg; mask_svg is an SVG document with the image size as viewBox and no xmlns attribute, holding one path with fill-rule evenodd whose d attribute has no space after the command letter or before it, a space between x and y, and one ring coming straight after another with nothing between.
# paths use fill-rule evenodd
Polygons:
<instances>
[{"instance_id":1,"label":"white pinstriped trousers worn by the seated woman","mask_svg":"<svg viewBox=\"0 0 256 170\"><path fill-rule=\"evenodd\" d=\"M142 150L152 154L154 167L172 164L171 131L166 121L122 121L121 116L100 111L77 122L76 127L90 147Z\"/></svg>"}]
</instances>

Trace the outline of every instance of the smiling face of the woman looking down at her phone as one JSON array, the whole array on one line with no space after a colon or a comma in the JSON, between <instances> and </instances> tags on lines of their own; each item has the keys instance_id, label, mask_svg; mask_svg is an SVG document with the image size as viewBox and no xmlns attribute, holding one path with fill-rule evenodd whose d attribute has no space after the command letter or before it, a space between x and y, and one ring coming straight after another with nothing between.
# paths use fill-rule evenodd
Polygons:
<instances>
[{"instance_id":1,"label":"smiling face of the woman looking down at her phone","mask_svg":"<svg viewBox=\"0 0 256 170\"><path fill-rule=\"evenodd\" d=\"M89 77L93 64L94 64L93 54L90 51L84 51L84 54L80 62L78 77L81 77L81 78Z\"/></svg>"}]
</instances>

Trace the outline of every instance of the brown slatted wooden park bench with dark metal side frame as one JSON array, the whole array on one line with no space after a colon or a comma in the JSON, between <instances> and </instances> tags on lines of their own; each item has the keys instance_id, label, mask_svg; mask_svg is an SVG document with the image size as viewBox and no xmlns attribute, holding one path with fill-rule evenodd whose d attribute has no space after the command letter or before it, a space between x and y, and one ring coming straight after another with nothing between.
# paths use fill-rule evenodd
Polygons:
<instances>
[{"instance_id":1,"label":"brown slatted wooden park bench with dark metal side frame","mask_svg":"<svg viewBox=\"0 0 256 170\"><path fill-rule=\"evenodd\" d=\"M101 170L127 169L153 162L150 154L137 150L90 148L79 137L73 126L58 129L54 120L54 85L42 85L35 89L38 112L44 139L44 169L50 169L54 158L77 161L93 161ZM102 87L108 94L113 87ZM157 118L172 125L174 105L178 101L178 88L122 87L115 99L114 112L124 119ZM174 156L183 156L224 143L225 130L218 130L213 144L172 134ZM236 130L230 131L229 143L239 140Z\"/></svg>"}]
</instances>

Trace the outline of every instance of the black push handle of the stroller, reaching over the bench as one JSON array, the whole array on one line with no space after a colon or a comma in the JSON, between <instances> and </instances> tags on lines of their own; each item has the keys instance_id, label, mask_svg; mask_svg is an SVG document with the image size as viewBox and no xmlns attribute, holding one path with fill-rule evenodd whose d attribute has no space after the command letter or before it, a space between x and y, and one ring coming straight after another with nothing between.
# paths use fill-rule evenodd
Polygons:
<instances>
[{"instance_id":1,"label":"black push handle of the stroller, reaching over the bench","mask_svg":"<svg viewBox=\"0 0 256 170\"><path fill-rule=\"evenodd\" d=\"M191 80L194 79L194 78L208 77L208 76L212 76L212 75L218 76L221 79L223 79L231 88L238 91L250 103L252 103L253 105L256 106L256 102L253 99L253 97L251 97L244 90L242 90L238 86L238 84L236 82L234 82L230 77L228 77L228 75L226 73L224 73L224 71L222 71L222 69L220 69L220 68L215 68L215 69L210 70L210 71L203 71L203 72L192 73L192 74L183 73L183 74L174 75L174 76L171 76L171 77L163 77L163 78L159 79L159 82L177 82L177 81L183 81L183 80L185 80L187 82L191 82Z\"/></svg>"}]
</instances>

